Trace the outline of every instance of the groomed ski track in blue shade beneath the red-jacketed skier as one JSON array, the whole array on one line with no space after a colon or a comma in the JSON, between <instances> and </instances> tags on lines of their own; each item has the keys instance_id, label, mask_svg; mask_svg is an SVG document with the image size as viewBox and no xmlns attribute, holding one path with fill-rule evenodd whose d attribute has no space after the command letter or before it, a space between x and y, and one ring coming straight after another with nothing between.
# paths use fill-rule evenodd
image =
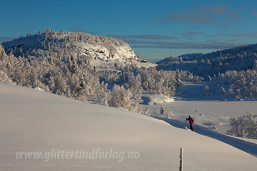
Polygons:
<instances>
[{"instance_id":1,"label":"groomed ski track in blue shade beneath the red-jacketed skier","mask_svg":"<svg viewBox=\"0 0 257 171\"><path fill-rule=\"evenodd\" d=\"M160 118L160 117L156 117L156 116L151 116L153 118L156 119L160 119L163 120L165 122L167 122L168 124L177 127L177 128L185 128L188 127L187 122L185 121L179 121L179 120L175 120L175 119L166 119L166 118ZM197 126L200 128L197 128ZM201 134L201 135L205 135L207 137L222 141L226 144L229 144L233 147L238 148L239 150L242 150L246 153L251 154L254 157L257 157L257 144L249 142L249 141L244 141L238 138L233 138L230 137L228 135L224 135L221 134L219 132L213 131L210 128L206 128L204 126L201 125L195 125L193 124L193 128L194 128L194 132Z\"/></svg>"}]
</instances>

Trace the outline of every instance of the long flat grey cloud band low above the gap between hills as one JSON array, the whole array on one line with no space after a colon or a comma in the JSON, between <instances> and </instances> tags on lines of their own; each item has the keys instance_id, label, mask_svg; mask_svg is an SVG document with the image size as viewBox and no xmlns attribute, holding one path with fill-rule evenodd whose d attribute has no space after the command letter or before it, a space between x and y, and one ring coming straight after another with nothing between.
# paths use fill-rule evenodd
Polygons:
<instances>
[{"instance_id":1,"label":"long flat grey cloud band low above the gap between hills","mask_svg":"<svg viewBox=\"0 0 257 171\"><path fill-rule=\"evenodd\" d=\"M204 42L194 41L194 36L205 35L205 37L236 37L250 36L248 34L232 34L219 33L216 35L207 36L204 32L183 32L177 33L185 36L187 39L181 39L180 36L161 36L161 35L108 35L116 37L129 43L131 48L158 48L158 49L224 49L238 46L238 43L233 41L220 41L220 39L210 39Z\"/></svg>"}]
</instances>

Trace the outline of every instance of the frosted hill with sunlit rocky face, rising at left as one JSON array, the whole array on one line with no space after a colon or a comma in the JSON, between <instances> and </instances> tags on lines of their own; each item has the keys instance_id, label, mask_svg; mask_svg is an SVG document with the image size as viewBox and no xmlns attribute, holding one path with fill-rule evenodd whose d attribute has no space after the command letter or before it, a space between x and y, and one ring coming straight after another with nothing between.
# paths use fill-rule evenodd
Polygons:
<instances>
[{"instance_id":1,"label":"frosted hill with sunlit rocky face, rising at left","mask_svg":"<svg viewBox=\"0 0 257 171\"><path fill-rule=\"evenodd\" d=\"M69 51L74 56L82 55L104 61L138 59L128 43L122 40L82 32L54 32L47 29L44 33L37 32L34 35L20 36L12 41L3 42L2 46L7 54L12 52L15 56L24 57L32 55L31 52L37 49L46 50L51 46L57 46L59 50Z\"/></svg>"}]
</instances>

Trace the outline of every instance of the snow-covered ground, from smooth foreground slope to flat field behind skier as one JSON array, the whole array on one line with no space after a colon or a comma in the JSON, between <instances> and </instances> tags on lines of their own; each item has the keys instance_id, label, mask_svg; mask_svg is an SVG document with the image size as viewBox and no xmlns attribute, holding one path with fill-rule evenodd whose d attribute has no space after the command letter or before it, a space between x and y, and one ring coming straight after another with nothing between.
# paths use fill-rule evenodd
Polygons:
<instances>
[{"instance_id":1,"label":"snow-covered ground, from smooth foreground slope to flat field behind skier","mask_svg":"<svg viewBox=\"0 0 257 171\"><path fill-rule=\"evenodd\" d=\"M165 97L161 103L161 97L152 96L144 96L150 113L163 104L181 121L0 83L0 170L178 170L180 147L184 170L256 170L257 144L205 128L214 125L224 133L229 116L256 113L256 101L203 100L194 93L186 100ZM196 107L204 116L194 115ZM188 115L201 129L184 129ZM246 145L253 155L243 151ZM25 157L25 152L42 153Z\"/></svg>"}]
</instances>

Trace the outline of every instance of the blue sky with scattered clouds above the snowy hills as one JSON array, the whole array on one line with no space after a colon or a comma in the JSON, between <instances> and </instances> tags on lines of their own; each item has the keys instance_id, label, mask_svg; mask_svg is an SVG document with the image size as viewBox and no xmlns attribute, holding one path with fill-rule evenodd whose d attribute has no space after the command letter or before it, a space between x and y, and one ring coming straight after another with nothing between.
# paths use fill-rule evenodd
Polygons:
<instances>
[{"instance_id":1,"label":"blue sky with scattered clouds above the snowy hills","mask_svg":"<svg viewBox=\"0 0 257 171\"><path fill-rule=\"evenodd\" d=\"M107 35L143 59L257 43L257 2L0 0L0 40L47 28Z\"/></svg>"}]
</instances>

